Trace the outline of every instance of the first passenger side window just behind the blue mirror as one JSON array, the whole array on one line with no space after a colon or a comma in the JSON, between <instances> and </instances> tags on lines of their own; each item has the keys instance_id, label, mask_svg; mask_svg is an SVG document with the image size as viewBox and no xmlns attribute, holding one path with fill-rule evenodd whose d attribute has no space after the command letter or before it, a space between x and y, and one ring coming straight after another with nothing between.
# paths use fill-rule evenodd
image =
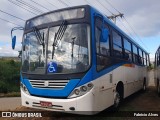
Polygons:
<instances>
[{"instance_id":1,"label":"first passenger side window just behind the blue mirror","mask_svg":"<svg viewBox=\"0 0 160 120\"><path fill-rule=\"evenodd\" d=\"M122 37L116 33L115 31L112 31L113 36L113 55L116 58L123 58L123 52L122 52Z\"/></svg>"}]
</instances>

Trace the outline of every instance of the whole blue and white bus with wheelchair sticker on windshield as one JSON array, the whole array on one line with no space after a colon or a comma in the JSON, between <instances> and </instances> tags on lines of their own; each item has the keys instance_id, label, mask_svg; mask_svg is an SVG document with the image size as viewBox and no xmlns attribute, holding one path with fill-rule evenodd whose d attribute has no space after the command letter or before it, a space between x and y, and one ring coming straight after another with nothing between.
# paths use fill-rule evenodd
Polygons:
<instances>
[{"instance_id":1,"label":"whole blue and white bus with wheelchair sticker on windshield","mask_svg":"<svg viewBox=\"0 0 160 120\"><path fill-rule=\"evenodd\" d=\"M48 12L25 24L22 105L73 113L116 108L146 89L148 65L149 54L95 8Z\"/></svg>"}]
</instances>

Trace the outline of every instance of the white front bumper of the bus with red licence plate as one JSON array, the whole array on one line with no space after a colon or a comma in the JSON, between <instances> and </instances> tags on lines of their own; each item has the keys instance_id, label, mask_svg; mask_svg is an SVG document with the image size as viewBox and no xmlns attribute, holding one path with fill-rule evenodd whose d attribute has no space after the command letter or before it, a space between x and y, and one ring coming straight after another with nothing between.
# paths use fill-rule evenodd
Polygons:
<instances>
[{"instance_id":1,"label":"white front bumper of the bus with red licence plate","mask_svg":"<svg viewBox=\"0 0 160 120\"><path fill-rule=\"evenodd\" d=\"M83 96L70 99L55 99L31 96L21 90L22 105L31 108L69 112L75 114L96 114L94 109L94 94L90 90ZM49 107L43 106L41 103L50 103Z\"/></svg>"}]
</instances>

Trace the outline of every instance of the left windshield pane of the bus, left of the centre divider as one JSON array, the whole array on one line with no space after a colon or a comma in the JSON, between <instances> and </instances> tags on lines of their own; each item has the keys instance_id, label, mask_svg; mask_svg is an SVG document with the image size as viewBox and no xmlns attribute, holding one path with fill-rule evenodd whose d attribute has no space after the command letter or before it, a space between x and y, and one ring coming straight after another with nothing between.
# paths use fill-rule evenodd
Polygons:
<instances>
[{"instance_id":1,"label":"left windshield pane of the bus, left of the centre divider","mask_svg":"<svg viewBox=\"0 0 160 120\"><path fill-rule=\"evenodd\" d=\"M44 35L44 41L47 38L47 29L39 30L41 35ZM45 73L45 48L36 37L35 32L30 32L24 35L23 40L23 55L22 55L22 71L34 73Z\"/></svg>"}]
</instances>

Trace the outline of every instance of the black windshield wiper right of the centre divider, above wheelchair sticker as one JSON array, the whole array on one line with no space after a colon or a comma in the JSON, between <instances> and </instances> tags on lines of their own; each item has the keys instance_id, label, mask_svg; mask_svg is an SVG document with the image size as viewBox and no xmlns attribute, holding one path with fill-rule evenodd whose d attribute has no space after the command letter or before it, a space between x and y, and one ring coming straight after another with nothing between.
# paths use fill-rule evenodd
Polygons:
<instances>
[{"instance_id":1,"label":"black windshield wiper right of the centre divider, above wheelchair sticker","mask_svg":"<svg viewBox=\"0 0 160 120\"><path fill-rule=\"evenodd\" d=\"M54 41L53 41L53 44L52 44L52 46L53 46L53 49L52 49L52 59L53 59L53 56L54 56L55 47L58 44L58 40L59 41L62 40L63 35L64 35L66 29L67 29L67 21L63 20L62 23L61 23L61 25L58 28L58 31L55 33L55 36L54 36Z\"/></svg>"}]
</instances>

